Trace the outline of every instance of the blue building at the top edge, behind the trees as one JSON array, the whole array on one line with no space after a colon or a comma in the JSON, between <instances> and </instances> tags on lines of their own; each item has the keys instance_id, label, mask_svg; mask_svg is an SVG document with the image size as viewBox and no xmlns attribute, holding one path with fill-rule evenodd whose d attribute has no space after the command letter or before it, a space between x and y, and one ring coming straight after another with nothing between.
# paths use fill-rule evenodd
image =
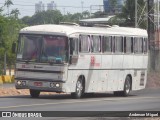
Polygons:
<instances>
[{"instance_id":1,"label":"blue building at the top edge, behind the trees","mask_svg":"<svg viewBox=\"0 0 160 120\"><path fill-rule=\"evenodd\" d=\"M108 14L119 13L122 11L122 6L125 0L117 0L116 7L114 8L111 4L112 0L103 0L104 11Z\"/></svg>"}]
</instances>

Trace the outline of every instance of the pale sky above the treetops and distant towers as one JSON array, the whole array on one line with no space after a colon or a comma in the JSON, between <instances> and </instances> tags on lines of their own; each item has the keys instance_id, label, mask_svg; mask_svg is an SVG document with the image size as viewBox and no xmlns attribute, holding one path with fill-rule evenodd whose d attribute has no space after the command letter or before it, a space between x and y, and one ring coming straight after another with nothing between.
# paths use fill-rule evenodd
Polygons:
<instances>
[{"instance_id":1,"label":"pale sky above the treetops and distant towers","mask_svg":"<svg viewBox=\"0 0 160 120\"><path fill-rule=\"evenodd\" d=\"M54 1L57 5L57 9L61 11L62 14L76 13L88 10L90 12L95 12L98 10L103 10L103 0L12 0L13 4L10 10L18 8L20 11L19 17L32 16L35 13L35 3L42 1L45 4L45 9L47 8L47 3ZM0 7L3 6L5 0L0 0ZM83 3L83 9L82 9ZM95 6L94 6L95 5ZM71 6L71 7L69 7ZM7 13L7 9L4 9L4 13Z\"/></svg>"}]
</instances>

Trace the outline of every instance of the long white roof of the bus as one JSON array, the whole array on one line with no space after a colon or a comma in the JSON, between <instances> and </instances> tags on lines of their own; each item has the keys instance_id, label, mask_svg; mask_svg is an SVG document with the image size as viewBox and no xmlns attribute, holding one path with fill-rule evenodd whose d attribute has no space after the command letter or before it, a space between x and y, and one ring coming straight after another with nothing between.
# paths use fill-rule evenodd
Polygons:
<instances>
[{"instance_id":1,"label":"long white roof of the bus","mask_svg":"<svg viewBox=\"0 0 160 120\"><path fill-rule=\"evenodd\" d=\"M21 29L20 33L27 34L57 34L69 36L75 33L80 34L108 34L108 35L121 35L121 36L142 36L147 37L147 31L140 28L130 27L83 27L83 26L68 26L68 25L36 25L25 27Z\"/></svg>"}]
</instances>

